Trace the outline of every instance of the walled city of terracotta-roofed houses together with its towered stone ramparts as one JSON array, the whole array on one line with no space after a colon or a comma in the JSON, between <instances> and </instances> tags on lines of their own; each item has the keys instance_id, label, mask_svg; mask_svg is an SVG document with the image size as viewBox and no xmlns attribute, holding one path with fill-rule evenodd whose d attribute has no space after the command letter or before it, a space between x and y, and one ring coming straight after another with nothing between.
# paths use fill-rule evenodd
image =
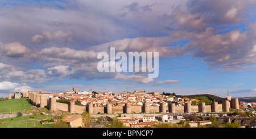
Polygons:
<instances>
[{"instance_id":1,"label":"walled city of terracotta-roofed houses together with its towered stone ramparts","mask_svg":"<svg viewBox=\"0 0 256 139\"><path fill-rule=\"evenodd\" d=\"M145 114L163 112L181 113L181 112L229 112L229 108L239 109L238 98L218 97L212 94L203 94L214 99L210 105L205 105L205 102L199 105L192 105L191 99L184 99L185 95L176 95L176 98L167 95L162 95L160 92L144 92L135 90L133 93L112 93L112 92L81 92L74 87L68 92L45 93L37 90L30 92L24 88L23 96L29 98L36 106L47 106L50 111L62 110L69 111L72 114L81 114L84 111L89 114L115 114L126 113L133 114L144 112ZM9 94L9 99L20 98L19 93ZM60 103L58 99L69 99L70 102ZM215 101L217 100L217 101ZM82 105L75 105L75 101L80 101ZM178 102L178 103L172 103Z\"/></svg>"}]
</instances>

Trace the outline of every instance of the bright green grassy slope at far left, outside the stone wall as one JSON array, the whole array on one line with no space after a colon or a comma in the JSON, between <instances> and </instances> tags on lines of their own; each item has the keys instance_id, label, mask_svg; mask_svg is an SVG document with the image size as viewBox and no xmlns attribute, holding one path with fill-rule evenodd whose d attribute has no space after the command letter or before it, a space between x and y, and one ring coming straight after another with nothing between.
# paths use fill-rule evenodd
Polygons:
<instances>
[{"instance_id":1,"label":"bright green grassy slope at far left, outside the stone wall","mask_svg":"<svg viewBox=\"0 0 256 139\"><path fill-rule=\"evenodd\" d=\"M0 101L0 114L11 114L19 110L27 110L32 105L28 102L28 98L9 99Z\"/></svg>"}]
</instances>

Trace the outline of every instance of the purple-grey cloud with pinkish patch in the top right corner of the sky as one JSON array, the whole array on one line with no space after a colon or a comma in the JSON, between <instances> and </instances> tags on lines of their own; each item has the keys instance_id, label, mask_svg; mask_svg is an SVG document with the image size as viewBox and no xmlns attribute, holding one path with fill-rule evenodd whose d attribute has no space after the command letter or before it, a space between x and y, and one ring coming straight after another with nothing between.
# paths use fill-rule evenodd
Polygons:
<instances>
[{"instance_id":1,"label":"purple-grey cloud with pinkish patch in the top right corner of the sky","mask_svg":"<svg viewBox=\"0 0 256 139\"><path fill-rule=\"evenodd\" d=\"M188 1L189 13L200 13L209 24L223 25L236 24L244 21L250 8L255 7L255 1L228 0L228 1Z\"/></svg>"}]
</instances>

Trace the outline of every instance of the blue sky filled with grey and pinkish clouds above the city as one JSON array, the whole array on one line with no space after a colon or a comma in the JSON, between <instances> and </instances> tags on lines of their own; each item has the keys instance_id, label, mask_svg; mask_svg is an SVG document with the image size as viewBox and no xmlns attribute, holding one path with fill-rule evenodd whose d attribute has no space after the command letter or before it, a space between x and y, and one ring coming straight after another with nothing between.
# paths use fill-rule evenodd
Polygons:
<instances>
[{"instance_id":1,"label":"blue sky filled with grey and pinkish clouds above the city","mask_svg":"<svg viewBox=\"0 0 256 139\"><path fill-rule=\"evenodd\" d=\"M0 0L0 97L24 86L256 97L255 7L254 0ZM158 77L99 72L97 55L110 47L158 52Z\"/></svg>"}]
</instances>

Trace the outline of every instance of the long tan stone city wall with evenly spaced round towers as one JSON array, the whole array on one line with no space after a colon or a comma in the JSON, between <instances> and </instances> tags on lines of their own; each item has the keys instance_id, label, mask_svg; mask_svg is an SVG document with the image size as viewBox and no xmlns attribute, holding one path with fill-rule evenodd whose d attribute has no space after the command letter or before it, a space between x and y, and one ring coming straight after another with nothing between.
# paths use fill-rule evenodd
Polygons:
<instances>
[{"instance_id":1,"label":"long tan stone city wall with evenly spaced round towers","mask_svg":"<svg viewBox=\"0 0 256 139\"><path fill-rule=\"evenodd\" d=\"M143 103L142 106L133 106L131 103L126 103L125 106L113 106L108 104L107 106L94 107L92 103L87 106L75 105L75 102L60 103L56 102L56 98L47 98L45 95L40 95L36 92L29 92L30 101L39 107L48 106L50 111L69 111L71 113L82 114L82 112L89 112L89 114L116 114L116 113L140 113L145 114L157 113L157 112L171 112L171 113L182 113L182 112L218 112L227 111L229 108L239 108L238 98L232 98L230 101L222 98L222 103L212 102L210 105L205 105L204 102L199 103L199 105L191 105L189 102L185 102L184 106L176 106L175 103L161 102L158 105L149 105L149 103Z\"/></svg>"}]
</instances>

